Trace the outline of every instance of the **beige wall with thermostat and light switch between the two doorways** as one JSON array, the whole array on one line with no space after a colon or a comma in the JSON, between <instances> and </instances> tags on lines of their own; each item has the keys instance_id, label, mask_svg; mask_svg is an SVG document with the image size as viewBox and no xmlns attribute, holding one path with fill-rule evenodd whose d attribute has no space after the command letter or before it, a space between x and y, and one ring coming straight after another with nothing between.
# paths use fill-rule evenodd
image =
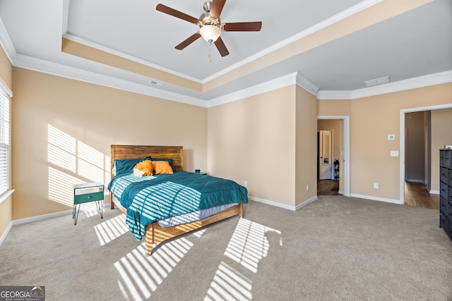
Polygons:
<instances>
[{"instance_id":1,"label":"beige wall with thermostat and light switch between the two doorways","mask_svg":"<svg viewBox=\"0 0 452 301\"><path fill-rule=\"evenodd\" d=\"M452 83L351 101L319 100L318 115L350 115L350 193L400 199L400 156L390 156L391 150L400 151L400 110L442 104L452 104ZM388 140L389 134L396 140ZM437 180L434 166L432 162L432 187Z\"/></svg>"}]
</instances>

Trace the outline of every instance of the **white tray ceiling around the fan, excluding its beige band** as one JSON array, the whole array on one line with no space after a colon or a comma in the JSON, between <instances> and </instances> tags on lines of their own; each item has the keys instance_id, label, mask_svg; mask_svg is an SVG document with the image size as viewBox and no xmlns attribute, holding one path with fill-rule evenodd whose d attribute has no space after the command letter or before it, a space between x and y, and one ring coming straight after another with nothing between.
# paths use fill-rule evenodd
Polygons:
<instances>
[{"instance_id":1,"label":"white tray ceiling around the fan, excluding its beige band","mask_svg":"<svg viewBox=\"0 0 452 301\"><path fill-rule=\"evenodd\" d=\"M203 84L380 1L227 0L222 23L260 20L263 25L260 32L222 32L230 55L221 57L203 39L174 49L198 26L155 10L160 2L198 18L203 0L0 0L0 43L13 66L197 104L294 73L314 92L361 90L365 80L386 75L391 82L439 73L450 78L451 0L434 0L206 92L169 82L150 85L150 77L61 51L66 37Z\"/></svg>"}]
</instances>

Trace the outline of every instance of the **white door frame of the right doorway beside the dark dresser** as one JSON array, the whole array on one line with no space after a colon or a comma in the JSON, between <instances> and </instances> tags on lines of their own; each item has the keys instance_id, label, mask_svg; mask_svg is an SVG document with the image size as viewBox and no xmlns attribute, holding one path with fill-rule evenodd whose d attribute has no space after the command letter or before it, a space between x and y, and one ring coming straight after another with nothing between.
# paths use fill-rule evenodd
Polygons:
<instances>
[{"instance_id":1,"label":"white door frame of the right doorway beside the dark dresser","mask_svg":"<svg viewBox=\"0 0 452 301\"><path fill-rule=\"evenodd\" d=\"M399 201L400 204L405 203L405 113L419 111L434 111L441 109L452 109L452 104L439 104L436 106L420 106L417 108L400 110L400 178L399 178ZM432 166L430 166L432 168Z\"/></svg>"}]
</instances>

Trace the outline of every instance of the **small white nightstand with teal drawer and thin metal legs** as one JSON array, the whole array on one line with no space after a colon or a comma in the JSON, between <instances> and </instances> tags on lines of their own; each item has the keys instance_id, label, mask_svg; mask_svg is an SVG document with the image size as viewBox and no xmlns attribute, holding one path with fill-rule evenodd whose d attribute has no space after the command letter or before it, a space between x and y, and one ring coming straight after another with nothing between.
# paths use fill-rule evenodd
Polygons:
<instances>
[{"instance_id":1,"label":"small white nightstand with teal drawer and thin metal legs","mask_svg":"<svg viewBox=\"0 0 452 301\"><path fill-rule=\"evenodd\" d=\"M100 182L74 184L73 190L73 208L72 218L73 224L77 224L78 212L80 211L80 205L88 202L96 202L97 212L100 214L100 218L103 219L102 205L104 202L104 184Z\"/></svg>"}]
</instances>

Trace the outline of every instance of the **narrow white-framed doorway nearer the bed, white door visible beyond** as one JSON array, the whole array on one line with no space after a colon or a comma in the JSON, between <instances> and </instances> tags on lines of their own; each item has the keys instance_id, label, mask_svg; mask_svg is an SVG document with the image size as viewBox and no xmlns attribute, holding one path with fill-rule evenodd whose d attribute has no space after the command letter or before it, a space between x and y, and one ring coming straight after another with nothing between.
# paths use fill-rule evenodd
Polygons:
<instances>
[{"instance_id":1,"label":"narrow white-framed doorway nearer the bed, white door visible beyond","mask_svg":"<svg viewBox=\"0 0 452 301\"><path fill-rule=\"evenodd\" d=\"M320 176L320 141L318 140L317 157L317 195L345 195L350 196L350 116L317 116L317 130L331 132L331 155L328 154L328 163L331 163L331 173L328 180L319 180ZM335 147L336 145L336 147ZM323 147L322 147L323 148ZM334 150L335 149L335 150ZM322 162L325 156L322 156ZM337 159L338 166L335 166ZM338 171L335 169L337 167ZM337 172L336 172L337 171ZM338 188L335 188L335 185Z\"/></svg>"}]
</instances>

